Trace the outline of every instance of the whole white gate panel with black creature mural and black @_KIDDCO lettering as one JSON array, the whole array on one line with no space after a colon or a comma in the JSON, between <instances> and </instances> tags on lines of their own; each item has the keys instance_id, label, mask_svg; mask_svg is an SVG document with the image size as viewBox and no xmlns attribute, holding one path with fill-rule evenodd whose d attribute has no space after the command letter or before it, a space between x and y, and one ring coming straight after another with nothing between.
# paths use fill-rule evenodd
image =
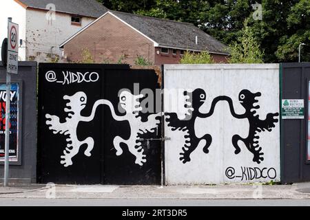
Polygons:
<instances>
[{"instance_id":1,"label":"whole white gate panel with black creature mural and black @_KIDDCO lettering","mask_svg":"<svg viewBox=\"0 0 310 220\"><path fill-rule=\"evenodd\" d=\"M184 90L194 91L194 111L187 121L180 120L188 110L184 98L178 99L181 109L169 109L165 96L165 112L169 115L165 136L171 137L165 142L166 184L280 181L278 65L165 65L164 87L177 89L179 97ZM203 91L206 98L201 95ZM198 103L201 99L205 101ZM251 107L254 100L258 102ZM256 105L259 107L254 109ZM212 107L214 113L207 115ZM177 110L175 118L173 112ZM251 114L254 110L256 113ZM240 146L238 154L233 137ZM190 143L186 144L186 138ZM209 152L204 152L204 146L209 146L205 148Z\"/></svg>"}]
</instances>

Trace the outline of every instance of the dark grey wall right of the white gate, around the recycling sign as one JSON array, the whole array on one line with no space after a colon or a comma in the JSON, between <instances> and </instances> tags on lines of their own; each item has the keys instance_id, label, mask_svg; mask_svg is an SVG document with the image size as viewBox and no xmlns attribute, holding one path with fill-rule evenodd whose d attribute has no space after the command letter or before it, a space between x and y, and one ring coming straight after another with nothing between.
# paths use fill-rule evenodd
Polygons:
<instances>
[{"instance_id":1,"label":"dark grey wall right of the white gate, around the recycling sign","mask_svg":"<svg viewBox=\"0 0 310 220\"><path fill-rule=\"evenodd\" d=\"M281 119L281 181L310 180L310 63L282 63L281 99L304 100L304 119Z\"/></svg>"}]
</instances>

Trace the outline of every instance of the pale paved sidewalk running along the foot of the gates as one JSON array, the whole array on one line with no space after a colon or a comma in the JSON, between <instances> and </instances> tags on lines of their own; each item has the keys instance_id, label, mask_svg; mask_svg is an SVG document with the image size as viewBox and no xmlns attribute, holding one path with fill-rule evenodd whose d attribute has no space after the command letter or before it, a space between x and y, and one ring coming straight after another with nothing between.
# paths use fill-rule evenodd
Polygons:
<instances>
[{"instance_id":1,"label":"pale paved sidewalk running along the foot of the gates","mask_svg":"<svg viewBox=\"0 0 310 220\"><path fill-rule=\"evenodd\" d=\"M310 183L218 186L73 186L0 187L0 198L59 199L310 199Z\"/></svg>"}]
</instances>

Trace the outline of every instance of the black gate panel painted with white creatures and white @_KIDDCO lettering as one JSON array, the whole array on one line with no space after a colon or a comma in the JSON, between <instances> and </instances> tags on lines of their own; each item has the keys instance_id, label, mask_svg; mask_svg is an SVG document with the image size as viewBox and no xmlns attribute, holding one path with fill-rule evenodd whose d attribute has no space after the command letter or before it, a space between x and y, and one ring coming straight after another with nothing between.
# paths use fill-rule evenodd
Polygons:
<instances>
[{"instance_id":1,"label":"black gate panel painted with white creatures and white @_KIDDCO lettering","mask_svg":"<svg viewBox=\"0 0 310 220\"><path fill-rule=\"evenodd\" d=\"M143 89L159 89L154 70L39 64L38 181L160 184L161 116L136 106Z\"/></svg>"}]
</instances>

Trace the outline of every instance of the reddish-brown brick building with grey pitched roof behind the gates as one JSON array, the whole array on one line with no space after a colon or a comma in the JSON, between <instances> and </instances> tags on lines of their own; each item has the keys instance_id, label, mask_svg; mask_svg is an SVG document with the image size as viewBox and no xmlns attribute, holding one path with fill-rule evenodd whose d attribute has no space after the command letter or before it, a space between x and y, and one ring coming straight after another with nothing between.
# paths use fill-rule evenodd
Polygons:
<instances>
[{"instance_id":1,"label":"reddish-brown brick building with grey pitched roof behind the gates","mask_svg":"<svg viewBox=\"0 0 310 220\"><path fill-rule=\"evenodd\" d=\"M96 63L134 65L138 56L154 65L176 64L185 51L207 51L216 63L227 61L227 47L190 23L108 11L61 44L64 58L81 61L83 50Z\"/></svg>"}]
</instances>

